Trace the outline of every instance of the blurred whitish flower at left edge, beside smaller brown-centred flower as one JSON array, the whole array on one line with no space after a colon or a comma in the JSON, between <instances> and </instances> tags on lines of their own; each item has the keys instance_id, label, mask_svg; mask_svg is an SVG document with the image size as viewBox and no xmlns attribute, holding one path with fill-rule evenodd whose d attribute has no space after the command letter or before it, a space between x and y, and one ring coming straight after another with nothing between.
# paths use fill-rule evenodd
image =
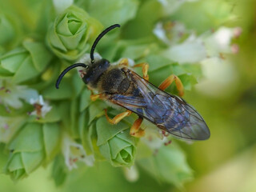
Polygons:
<instances>
[{"instance_id":1,"label":"blurred whitish flower at left edge, beside smaller brown-centred flower","mask_svg":"<svg viewBox=\"0 0 256 192\"><path fill-rule=\"evenodd\" d=\"M0 104L6 108L9 106L14 109L21 108L23 106L21 99L29 102L30 98L37 97L36 90L29 89L27 86L17 86L8 80L0 80Z\"/></svg>"}]
</instances>

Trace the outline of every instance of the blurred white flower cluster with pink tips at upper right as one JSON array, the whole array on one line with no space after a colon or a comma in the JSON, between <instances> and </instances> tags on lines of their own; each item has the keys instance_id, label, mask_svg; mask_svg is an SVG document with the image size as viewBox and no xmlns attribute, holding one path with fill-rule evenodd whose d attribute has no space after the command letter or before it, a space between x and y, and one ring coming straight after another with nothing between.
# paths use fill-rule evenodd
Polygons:
<instances>
[{"instance_id":1,"label":"blurred white flower cluster with pink tips at upper right","mask_svg":"<svg viewBox=\"0 0 256 192\"><path fill-rule=\"evenodd\" d=\"M184 32L190 34L190 37L178 43L181 39L178 35ZM182 24L178 27L174 25L170 31L163 28L162 22L154 28L154 34L169 45L169 48L162 52L163 56L180 64L204 62L209 58L223 59L222 54L237 54L239 47L236 44L231 45L231 41L232 38L238 38L241 33L239 27L221 27L214 33L208 31L197 37L193 32L187 31ZM171 36L171 39L168 36Z\"/></svg>"}]
</instances>

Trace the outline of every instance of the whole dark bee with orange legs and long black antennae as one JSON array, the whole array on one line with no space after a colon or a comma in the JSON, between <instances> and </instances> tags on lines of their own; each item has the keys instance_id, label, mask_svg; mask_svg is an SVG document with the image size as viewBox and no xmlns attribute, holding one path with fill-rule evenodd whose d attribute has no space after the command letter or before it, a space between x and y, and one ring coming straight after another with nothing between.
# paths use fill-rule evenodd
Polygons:
<instances>
[{"instance_id":1,"label":"whole dark bee with orange legs and long black antennae","mask_svg":"<svg viewBox=\"0 0 256 192\"><path fill-rule=\"evenodd\" d=\"M71 69L82 66L82 81L90 90L95 90L98 94L90 95L94 101L100 98L104 101L121 106L125 112L110 118L105 110L106 119L112 124L117 124L132 113L138 114L130 128L130 135L142 137L144 130L140 128L142 120L152 122L163 131L166 131L178 138L189 140L206 140L210 138L210 130L200 114L194 107L187 104L182 98L168 94L164 90L172 82L176 83L179 94L183 94L183 86L180 79L175 75L170 75L160 86L154 86L148 81L149 76L147 63L140 63L133 67L142 67L143 77L139 76L129 66L127 58L121 59L117 65L111 65L105 58L94 59L94 50L99 40L110 30L120 25L115 24L103 30L94 41L90 50L90 64L76 63L68 66L59 75L56 88L63 76Z\"/></svg>"}]
</instances>

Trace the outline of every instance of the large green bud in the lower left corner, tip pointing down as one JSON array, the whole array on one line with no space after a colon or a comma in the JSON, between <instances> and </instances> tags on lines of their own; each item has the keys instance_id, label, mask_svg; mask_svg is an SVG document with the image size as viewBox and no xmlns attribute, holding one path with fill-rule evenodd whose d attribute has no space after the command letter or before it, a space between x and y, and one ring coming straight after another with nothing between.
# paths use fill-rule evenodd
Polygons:
<instances>
[{"instance_id":1,"label":"large green bud in the lower left corner, tip pointing down","mask_svg":"<svg viewBox=\"0 0 256 192\"><path fill-rule=\"evenodd\" d=\"M5 173L14 180L25 178L43 162L54 158L59 138L60 130L55 123L27 123L8 144L11 154Z\"/></svg>"}]
</instances>

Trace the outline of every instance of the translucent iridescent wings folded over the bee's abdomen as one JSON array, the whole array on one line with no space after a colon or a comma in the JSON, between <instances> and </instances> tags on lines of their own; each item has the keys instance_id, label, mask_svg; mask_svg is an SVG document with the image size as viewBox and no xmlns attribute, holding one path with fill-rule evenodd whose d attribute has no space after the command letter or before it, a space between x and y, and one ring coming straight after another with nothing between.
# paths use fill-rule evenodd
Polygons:
<instances>
[{"instance_id":1,"label":"translucent iridescent wings folded over the bee's abdomen","mask_svg":"<svg viewBox=\"0 0 256 192\"><path fill-rule=\"evenodd\" d=\"M200 114L182 98L159 90L150 82L129 71L134 94L113 94L110 102L131 110L178 138L205 140L210 130Z\"/></svg>"}]
</instances>

